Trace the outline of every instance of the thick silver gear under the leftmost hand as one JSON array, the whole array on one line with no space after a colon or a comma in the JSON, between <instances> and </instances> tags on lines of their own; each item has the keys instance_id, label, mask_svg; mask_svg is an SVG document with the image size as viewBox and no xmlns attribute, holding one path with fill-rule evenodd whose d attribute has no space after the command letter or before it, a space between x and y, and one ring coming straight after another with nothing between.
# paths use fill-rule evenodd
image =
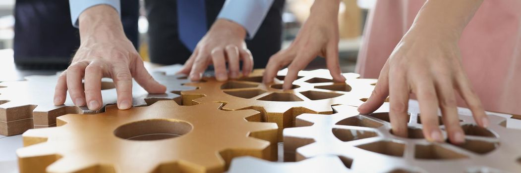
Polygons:
<instances>
[{"instance_id":1,"label":"thick silver gear under the leftmost hand","mask_svg":"<svg viewBox=\"0 0 521 173\"><path fill-rule=\"evenodd\" d=\"M143 106L157 100L178 98L179 91L195 89L182 84L190 82L185 76L153 73L154 78L167 87L165 94L148 94L135 81L132 84L134 106ZM27 76L26 81L0 83L0 135L22 134L30 128L56 126L56 117L74 114L103 112L104 107L90 111L87 107L76 107L67 95L63 105L54 105L54 89L58 75ZM103 104L115 104L116 89L111 79L102 79ZM179 98L179 101L180 98Z\"/></svg>"}]
</instances>

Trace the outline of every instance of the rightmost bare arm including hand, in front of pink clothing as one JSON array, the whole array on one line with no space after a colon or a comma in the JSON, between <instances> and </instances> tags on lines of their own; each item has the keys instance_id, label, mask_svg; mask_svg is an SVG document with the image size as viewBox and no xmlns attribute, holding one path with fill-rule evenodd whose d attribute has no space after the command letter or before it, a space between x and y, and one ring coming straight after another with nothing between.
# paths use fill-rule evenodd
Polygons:
<instances>
[{"instance_id":1,"label":"rightmost bare arm including hand, in front of pink clothing","mask_svg":"<svg viewBox=\"0 0 521 173\"><path fill-rule=\"evenodd\" d=\"M383 66L373 95L358 111L373 112L389 96L393 133L406 137L407 103L413 93L420 105L424 136L431 141L444 140L437 120L439 108L450 141L463 143L465 135L454 93L457 90L476 122L486 127L488 118L462 68L458 48L463 29L481 3L482 0L427 1Z\"/></svg>"}]
</instances>

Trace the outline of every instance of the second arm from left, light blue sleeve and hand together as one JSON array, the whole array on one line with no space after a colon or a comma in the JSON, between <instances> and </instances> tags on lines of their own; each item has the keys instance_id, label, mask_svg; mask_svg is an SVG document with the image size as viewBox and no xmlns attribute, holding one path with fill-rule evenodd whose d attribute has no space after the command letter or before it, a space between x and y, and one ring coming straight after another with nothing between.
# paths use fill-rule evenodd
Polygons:
<instances>
[{"instance_id":1,"label":"second arm from left, light blue sleeve and hand together","mask_svg":"<svg viewBox=\"0 0 521 173\"><path fill-rule=\"evenodd\" d=\"M240 76L253 70L253 57L244 39L253 38L274 0L227 0L218 19L195 47L179 73L190 74L199 81L209 64L214 64L219 81ZM229 70L227 72L226 63Z\"/></svg>"}]
</instances>

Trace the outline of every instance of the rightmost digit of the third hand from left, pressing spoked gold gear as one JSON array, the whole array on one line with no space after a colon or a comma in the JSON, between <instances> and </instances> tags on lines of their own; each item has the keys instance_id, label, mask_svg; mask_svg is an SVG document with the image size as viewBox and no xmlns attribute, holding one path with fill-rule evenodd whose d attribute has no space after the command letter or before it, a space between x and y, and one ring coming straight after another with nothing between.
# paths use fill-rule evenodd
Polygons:
<instances>
[{"instance_id":1,"label":"rightmost digit of the third hand from left, pressing spoked gold gear","mask_svg":"<svg viewBox=\"0 0 521 173\"><path fill-rule=\"evenodd\" d=\"M335 82L345 82L345 77L342 75L340 63L338 62L338 42L330 44L327 48L326 65Z\"/></svg>"}]
</instances>

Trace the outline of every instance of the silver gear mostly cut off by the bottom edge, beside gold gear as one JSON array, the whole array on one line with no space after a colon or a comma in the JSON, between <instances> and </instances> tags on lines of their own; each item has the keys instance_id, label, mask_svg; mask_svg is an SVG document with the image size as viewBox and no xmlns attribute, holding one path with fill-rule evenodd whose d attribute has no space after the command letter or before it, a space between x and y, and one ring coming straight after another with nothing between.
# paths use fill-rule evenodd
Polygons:
<instances>
[{"instance_id":1,"label":"silver gear mostly cut off by the bottom edge, beside gold gear","mask_svg":"<svg viewBox=\"0 0 521 173\"><path fill-rule=\"evenodd\" d=\"M228 173L296 173L296 172L352 172L344 166L337 156L317 156L300 162L278 163L269 162L255 157L244 156L234 158Z\"/></svg>"}]
</instances>

